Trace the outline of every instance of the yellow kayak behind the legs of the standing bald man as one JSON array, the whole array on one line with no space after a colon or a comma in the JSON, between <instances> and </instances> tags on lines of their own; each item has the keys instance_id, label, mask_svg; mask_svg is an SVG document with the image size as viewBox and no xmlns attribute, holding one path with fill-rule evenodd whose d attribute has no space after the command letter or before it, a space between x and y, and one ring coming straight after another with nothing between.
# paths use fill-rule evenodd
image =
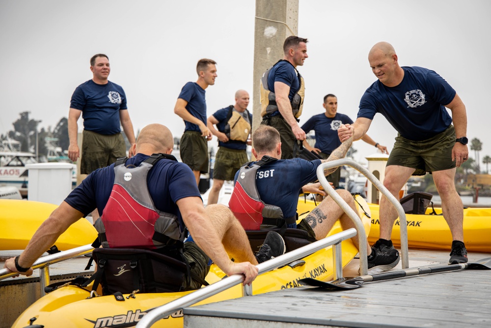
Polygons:
<instances>
[{"instance_id":1,"label":"yellow kayak behind the legs of the standing bald man","mask_svg":"<svg viewBox=\"0 0 491 328\"><path fill-rule=\"evenodd\" d=\"M368 234L368 242L375 243L379 239L379 205L368 204L372 214L372 225ZM441 214L441 208L435 208ZM450 250L452 234L443 215L430 214L433 209L428 208L426 214L406 214L408 227L409 248L427 248ZM391 239L395 246L401 245L399 219L392 228ZM464 243L465 248L475 252L491 252L491 208L464 209Z\"/></svg>"}]
</instances>

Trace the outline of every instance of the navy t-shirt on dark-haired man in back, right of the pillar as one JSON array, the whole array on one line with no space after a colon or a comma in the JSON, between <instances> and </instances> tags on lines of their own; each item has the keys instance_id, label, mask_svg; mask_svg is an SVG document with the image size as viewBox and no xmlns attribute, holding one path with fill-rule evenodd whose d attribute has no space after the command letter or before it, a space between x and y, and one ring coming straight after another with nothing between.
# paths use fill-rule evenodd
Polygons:
<instances>
[{"instance_id":1,"label":"navy t-shirt on dark-haired man in back, right of the pillar","mask_svg":"<svg viewBox=\"0 0 491 328\"><path fill-rule=\"evenodd\" d=\"M325 113L314 115L301 127L305 133L315 131L315 148L330 154L332 150L341 146L337 130L341 124L352 124L353 120L347 115L336 113L333 118L328 118Z\"/></svg>"}]
</instances>

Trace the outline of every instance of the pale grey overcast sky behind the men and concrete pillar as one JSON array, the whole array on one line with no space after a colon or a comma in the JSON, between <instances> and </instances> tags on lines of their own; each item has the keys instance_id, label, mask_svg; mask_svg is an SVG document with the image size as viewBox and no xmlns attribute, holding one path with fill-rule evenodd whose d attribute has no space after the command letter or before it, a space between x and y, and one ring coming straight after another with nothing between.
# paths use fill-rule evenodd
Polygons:
<instances>
[{"instance_id":1,"label":"pale grey overcast sky behind the men and concrete pillar","mask_svg":"<svg viewBox=\"0 0 491 328\"><path fill-rule=\"evenodd\" d=\"M401 65L433 69L457 90L469 140L483 142L481 158L491 155L490 13L489 0L300 0L298 34L309 39L309 58L299 67L306 86L300 124L324 111L327 93L337 95L338 112L355 119L376 80L368 51L387 41ZM105 53L135 133L158 122L181 136L184 123L173 108L183 85L196 81L200 58L218 62L216 84L206 89L207 115L233 104L237 89L252 98L254 16L253 0L2 0L0 133L23 111L54 127L68 116L75 88L92 78L90 57ZM368 134L392 149L396 132L381 115ZM376 150L363 141L354 148L358 160Z\"/></svg>"}]
</instances>

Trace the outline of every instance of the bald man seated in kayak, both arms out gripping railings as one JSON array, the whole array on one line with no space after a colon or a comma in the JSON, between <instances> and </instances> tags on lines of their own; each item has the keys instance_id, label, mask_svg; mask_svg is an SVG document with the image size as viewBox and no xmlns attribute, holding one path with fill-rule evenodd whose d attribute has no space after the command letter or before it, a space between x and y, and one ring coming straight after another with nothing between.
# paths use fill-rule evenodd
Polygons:
<instances>
[{"instance_id":1,"label":"bald man seated in kayak, both arms out gripping railings","mask_svg":"<svg viewBox=\"0 0 491 328\"><path fill-rule=\"evenodd\" d=\"M125 163L126 167L136 166L136 168L125 169L123 171L124 180L136 180L136 169L145 166L140 164L145 164L144 161L149 159L152 154L170 154L173 146L172 133L164 125L150 124L144 127L138 135L136 144L132 146L134 147L133 153L136 155L127 159ZM184 243L184 256L189 262L195 263L194 266L191 266L191 282L185 279L191 285L183 286L185 290L201 287L201 283L193 280L192 277L197 275L202 279L205 278L209 270L210 258L228 276L244 274L246 277L244 284L250 284L258 274L258 269L255 267L258 262L264 262L285 252L281 236L270 233L263 247L254 256L244 228L232 212L223 205L210 205L205 209L196 180L189 166L177 162L171 155L165 156L166 158L156 162L148 171L146 186L143 188L142 183L139 183L137 187L138 189L148 189L149 193L147 194L151 197L150 203L153 203L151 207L154 207L159 214L165 214L167 217L176 219L177 223L168 224L165 228L165 236L172 236L173 239L183 241L186 237L185 228L187 227L194 239L194 242ZM124 165L119 167L124 167ZM111 202L109 198L114 196L111 190L115 190L115 178L119 177L116 175L118 172L114 168L114 164L92 172L39 227L25 251L16 258L8 259L4 267L12 272L31 275L32 268L30 267L34 261L49 249L71 224L82 216L97 208L101 213L101 220L104 222L104 218L111 215L112 209L106 212L104 210L106 206L109 208ZM133 177L131 172L134 172ZM121 184L125 185L127 182L121 181ZM126 206L125 208L123 206L123 210L129 212L130 207ZM130 218L132 223L135 219L136 217ZM96 222L95 225L97 226L97 224ZM107 222L105 224L105 233L108 237L106 242L109 242L110 245L109 230L111 227L117 229L117 226L110 226ZM121 230L119 233L124 235L126 232ZM156 232L157 224L155 224ZM152 231L153 233L154 231ZM127 244L120 248L138 248L131 244L132 239L134 238L116 241L113 239L112 242L116 243L115 248L121 246L117 243L123 242L127 242ZM155 235L154 237L150 236L150 242L158 245L158 242L153 239L155 239ZM229 256L233 257L235 262L232 262Z\"/></svg>"}]
</instances>

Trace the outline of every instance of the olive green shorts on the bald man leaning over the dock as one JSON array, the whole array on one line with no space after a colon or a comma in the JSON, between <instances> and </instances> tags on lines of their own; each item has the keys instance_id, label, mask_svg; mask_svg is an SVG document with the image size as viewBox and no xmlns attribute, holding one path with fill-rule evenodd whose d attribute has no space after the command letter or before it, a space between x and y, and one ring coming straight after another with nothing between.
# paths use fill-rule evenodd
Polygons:
<instances>
[{"instance_id":1,"label":"olive green shorts on the bald man leaning over the dock","mask_svg":"<svg viewBox=\"0 0 491 328\"><path fill-rule=\"evenodd\" d=\"M387 166L399 165L416 169L413 176L453 169L456 166L455 161L452 160L455 139L453 125L436 136L422 141L413 141L398 135L387 160Z\"/></svg>"}]
</instances>

